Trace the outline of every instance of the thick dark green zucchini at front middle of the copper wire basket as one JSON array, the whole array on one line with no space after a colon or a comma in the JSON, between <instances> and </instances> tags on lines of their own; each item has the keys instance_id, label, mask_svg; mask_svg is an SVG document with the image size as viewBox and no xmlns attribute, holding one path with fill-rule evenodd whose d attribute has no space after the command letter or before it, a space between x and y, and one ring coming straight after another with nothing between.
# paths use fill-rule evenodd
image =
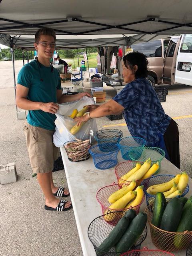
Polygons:
<instances>
[{"instance_id":1,"label":"thick dark green zucchini at front middle of the copper wire basket","mask_svg":"<svg viewBox=\"0 0 192 256\"><path fill-rule=\"evenodd\" d=\"M160 228L162 230L176 232L182 215L182 202L179 198L172 198L163 213Z\"/></svg>"}]
</instances>

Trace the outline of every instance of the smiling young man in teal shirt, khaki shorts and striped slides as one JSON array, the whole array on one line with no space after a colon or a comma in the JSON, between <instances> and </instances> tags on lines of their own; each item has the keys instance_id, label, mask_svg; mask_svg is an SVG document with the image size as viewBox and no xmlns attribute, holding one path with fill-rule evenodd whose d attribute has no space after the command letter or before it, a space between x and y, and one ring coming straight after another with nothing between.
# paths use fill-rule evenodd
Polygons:
<instances>
[{"instance_id":1,"label":"smiling young man in teal shirt, khaki shorts and striped slides","mask_svg":"<svg viewBox=\"0 0 192 256\"><path fill-rule=\"evenodd\" d=\"M62 94L58 71L50 64L55 40L55 32L50 28L41 28L36 32L34 47L38 51L38 59L26 64L18 74L16 104L19 108L29 110L24 133L31 167L37 173L45 196L45 209L65 211L72 207L71 202L56 196L66 197L69 192L56 187L52 178L53 162L59 156L59 148L52 141L55 113L59 109L58 104L79 100L90 94Z\"/></svg>"}]
</instances>

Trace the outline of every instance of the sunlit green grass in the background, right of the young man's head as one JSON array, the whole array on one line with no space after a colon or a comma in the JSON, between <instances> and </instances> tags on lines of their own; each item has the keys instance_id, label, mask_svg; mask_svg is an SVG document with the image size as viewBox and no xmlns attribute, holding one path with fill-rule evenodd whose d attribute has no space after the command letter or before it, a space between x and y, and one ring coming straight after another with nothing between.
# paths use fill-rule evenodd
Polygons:
<instances>
[{"instance_id":1,"label":"sunlit green grass in the background, right of the young man's head","mask_svg":"<svg viewBox=\"0 0 192 256\"><path fill-rule=\"evenodd\" d=\"M89 62L89 68L97 68L97 52L88 53L88 62ZM60 56L62 60L65 60L64 56ZM75 68L78 67L78 58L75 57L74 61L72 59L68 59L70 61L67 61L68 64L72 64L72 69L74 69L74 61L75 61ZM81 60L84 60L83 55L79 55L79 65L81 66ZM88 63L85 62L85 66L88 68Z\"/></svg>"}]
</instances>

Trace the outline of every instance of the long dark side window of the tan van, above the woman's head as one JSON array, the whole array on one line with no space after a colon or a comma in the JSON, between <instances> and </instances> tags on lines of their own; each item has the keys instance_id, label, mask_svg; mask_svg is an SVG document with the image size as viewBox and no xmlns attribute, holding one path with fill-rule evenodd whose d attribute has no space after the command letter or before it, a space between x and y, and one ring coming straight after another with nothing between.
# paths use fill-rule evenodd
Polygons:
<instances>
[{"instance_id":1,"label":"long dark side window of the tan van, above the woman's head","mask_svg":"<svg viewBox=\"0 0 192 256\"><path fill-rule=\"evenodd\" d=\"M133 44L134 52L142 52L146 57L162 57L161 40Z\"/></svg>"}]
</instances>

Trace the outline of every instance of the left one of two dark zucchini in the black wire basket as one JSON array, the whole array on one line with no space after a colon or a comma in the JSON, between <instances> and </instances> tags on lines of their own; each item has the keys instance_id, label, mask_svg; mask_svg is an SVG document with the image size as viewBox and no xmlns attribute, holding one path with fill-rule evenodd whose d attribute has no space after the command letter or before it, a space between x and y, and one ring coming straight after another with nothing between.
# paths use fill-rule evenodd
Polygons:
<instances>
[{"instance_id":1,"label":"left one of two dark zucchini in the black wire basket","mask_svg":"<svg viewBox=\"0 0 192 256\"><path fill-rule=\"evenodd\" d=\"M98 247L97 256L102 255L104 252L108 252L110 248L112 248L120 240L135 216L136 212L133 209L126 212L126 214L118 221L114 229L110 232L108 237Z\"/></svg>"}]
</instances>

